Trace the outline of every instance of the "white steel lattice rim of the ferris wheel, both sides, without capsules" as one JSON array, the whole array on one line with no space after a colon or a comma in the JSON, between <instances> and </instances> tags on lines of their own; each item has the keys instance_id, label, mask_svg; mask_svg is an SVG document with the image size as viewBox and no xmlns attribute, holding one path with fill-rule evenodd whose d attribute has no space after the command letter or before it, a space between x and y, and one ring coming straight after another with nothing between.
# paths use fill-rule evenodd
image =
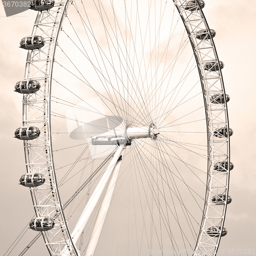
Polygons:
<instances>
[{"instance_id":1,"label":"white steel lattice rim of the ferris wheel, both sides, without capsules","mask_svg":"<svg viewBox=\"0 0 256 256\"><path fill-rule=\"evenodd\" d=\"M47 248L51 255L59 255L63 248L70 249L70 255L78 255L70 231L67 227L65 216L58 193L56 176L52 158L51 146L51 75L53 71L54 53L57 37L61 30L63 18L67 13L70 0L66 3L55 3L49 11L38 12L32 35L40 35L46 39L46 45L40 50L28 51L25 79L36 79L44 86L35 94L24 94L23 98L23 125L37 126L41 135L38 139L24 141L27 172L37 172L47 178L44 185L31 187L31 196L37 217L48 216L54 218L55 227L49 231L43 231ZM220 127L227 127L228 116L226 99L224 104L212 103L210 98L216 93L225 95L222 74L219 71L205 70L204 65L209 61L216 62L219 59L212 38L200 40L196 38L196 32L209 27L205 17L199 8L186 10L188 0L174 1L187 30L194 54L197 60L201 78L202 90L205 101L205 112L208 130L208 179L205 197L205 207L198 243L195 255L215 255L220 238L212 238L207 234L209 227L221 227L222 232L227 205L229 168L225 172L214 169L215 164L228 161L229 166L229 135L228 137L215 137L214 131ZM210 33L209 33L210 34ZM211 202L211 198L218 194L226 195L225 204L218 205Z\"/></svg>"}]
</instances>

